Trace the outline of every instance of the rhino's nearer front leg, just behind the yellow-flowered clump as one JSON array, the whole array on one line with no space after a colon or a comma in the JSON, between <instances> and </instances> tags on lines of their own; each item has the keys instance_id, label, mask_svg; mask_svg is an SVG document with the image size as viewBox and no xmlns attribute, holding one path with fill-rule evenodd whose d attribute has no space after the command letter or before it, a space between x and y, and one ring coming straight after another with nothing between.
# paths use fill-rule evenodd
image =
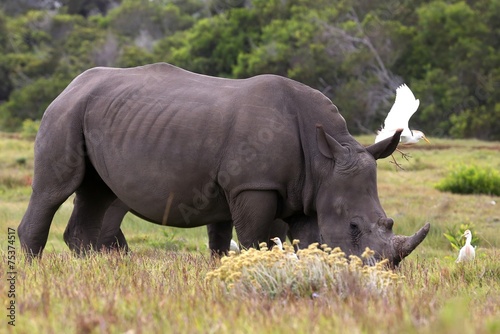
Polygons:
<instances>
[{"instance_id":1,"label":"rhino's nearer front leg, just behind the yellow-flowered clump","mask_svg":"<svg viewBox=\"0 0 500 334\"><path fill-rule=\"evenodd\" d=\"M243 191L231 203L231 215L238 240L244 248L269 242L276 216L277 193L274 191Z\"/></svg>"}]
</instances>

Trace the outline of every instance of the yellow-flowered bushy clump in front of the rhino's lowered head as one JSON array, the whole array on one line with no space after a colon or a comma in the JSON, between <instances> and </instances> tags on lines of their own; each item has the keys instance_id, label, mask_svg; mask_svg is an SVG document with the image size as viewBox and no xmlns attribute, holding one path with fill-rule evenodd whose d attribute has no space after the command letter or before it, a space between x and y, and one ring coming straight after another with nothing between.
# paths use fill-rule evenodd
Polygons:
<instances>
[{"instance_id":1,"label":"yellow-flowered bushy clump in front of the rhino's lowered head","mask_svg":"<svg viewBox=\"0 0 500 334\"><path fill-rule=\"evenodd\" d=\"M284 250L261 247L244 250L240 255L230 253L206 279L220 282L235 295L300 298L334 291L341 299L352 295L384 296L402 280L402 276L387 269L387 260L375 263L374 252L368 248L362 258L347 259L338 247L317 246L310 245L297 254L286 244ZM374 265L365 265L363 260Z\"/></svg>"}]
</instances>

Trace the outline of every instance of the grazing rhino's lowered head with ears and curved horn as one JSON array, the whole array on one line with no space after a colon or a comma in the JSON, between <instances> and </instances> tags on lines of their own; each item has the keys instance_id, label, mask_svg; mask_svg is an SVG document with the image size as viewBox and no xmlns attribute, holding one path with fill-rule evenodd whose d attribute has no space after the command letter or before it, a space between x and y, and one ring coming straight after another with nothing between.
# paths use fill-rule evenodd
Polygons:
<instances>
[{"instance_id":1,"label":"grazing rhino's lowered head with ears and curved horn","mask_svg":"<svg viewBox=\"0 0 500 334\"><path fill-rule=\"evenodd\" d=\"M370 247L376 258L388 258L397 265L424 240L428 223L411 237L394 235L394 221L386 216L378 198L375 160L392 154L400 135L398 131L365 148L355 140L341 145L317 126L320 159L326 159L321 165L327 166L316 198L323 242L355 255Z\"/></svg>"}]
</instances>

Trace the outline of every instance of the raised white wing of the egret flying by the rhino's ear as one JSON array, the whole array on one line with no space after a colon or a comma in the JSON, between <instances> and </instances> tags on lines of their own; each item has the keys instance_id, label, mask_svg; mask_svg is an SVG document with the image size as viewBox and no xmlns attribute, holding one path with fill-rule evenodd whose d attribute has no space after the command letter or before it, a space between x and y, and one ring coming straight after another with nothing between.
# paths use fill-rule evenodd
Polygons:
<instances>
[{"instance_id":1,"label":"raised white wing of the egret flying by the rhino's ear","mask_svg":"<svg viewBox=\"0 0 500 334\"><path fill-rule=\"evenodd\" d=\"M396 100L384 121L384 130L395 131L397 129L408 129L408 122L417 111L420 101L415 99L412 91L406 84L396 89ZM404 133L403 130L403 133Z\"/></svg>"}]
</instances>

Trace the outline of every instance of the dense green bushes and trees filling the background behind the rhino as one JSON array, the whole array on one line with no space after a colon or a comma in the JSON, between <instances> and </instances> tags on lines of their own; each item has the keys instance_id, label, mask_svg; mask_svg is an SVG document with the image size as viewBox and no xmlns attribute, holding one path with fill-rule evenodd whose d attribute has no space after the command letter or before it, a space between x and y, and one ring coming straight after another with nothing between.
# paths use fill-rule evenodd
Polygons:
<instances>
[{"instance_id":1,"label":"dense green bushes and trees filling the background behind the rhino","mask_svg":"<svg viewBox=\"0 0 500 334\"><path fill-rule=\"evenodd\" d=\"M18 130L82 71L165 61L243 78L275 73L374 132L406 82L411 126L500 139L500 0L4 0L0 129Z\"/></svg>"}]
</instances>

